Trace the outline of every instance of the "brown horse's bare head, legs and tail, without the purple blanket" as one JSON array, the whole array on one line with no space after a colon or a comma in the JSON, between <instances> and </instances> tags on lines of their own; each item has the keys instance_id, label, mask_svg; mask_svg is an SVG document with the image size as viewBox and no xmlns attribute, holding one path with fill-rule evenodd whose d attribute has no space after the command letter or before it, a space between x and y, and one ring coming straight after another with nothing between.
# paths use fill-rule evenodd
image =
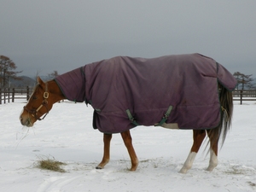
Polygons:
<instances>
[{"instance_id":1,"label":"brown horse's bare head, legs and tail, without the purple blanket","mask_svg":"<svg viewBox=\"0 0 256 192\"><path fill-rule=\"evenodd\" d=\"M195 160L195 155L197 154L199 148L201 147L201 143L206 136L209 137L210 144L210 160L207 171L211 172L218 165L218 142L220 140L220 137L222 136L222 142L224 143L227 131L230 128L233 111L233 100L231 91L227 90L222 84L217 84L217 90L219 106L221 107L221 109L219 110L220 122L218 126L211 129L193 129L194 143L189 152L187 160L184 162L184 165L180 170L180 172L182 173L186 173L191 168L193 161ZM63 94L63 90L60 88L60 84L56 83L56 80L50 80L44 83L44 81L38 77L38 84L35 87L32 96L30 97L26 106L24 107L23 112L20 114L20 123L22 125L31 127L37 120L45 118L46 114L49 113L49 110L51 110L55 102L59 102L63 99L67 99L67 96ZM166 119L167 118L168 117L166 117ZM133 121L132 123L135 122ZM167 125L167 127L178 128L175 124L169 124L169 126ZM131 158L131 171L135 171L138 166L138 159L132 145L130 131L128 129L126 131L120 132L120 134L124 140L125 147L127 148ZM97 169L102 169L104 168L104 166L106 166L106 164L108 164L110 158L111 138L112 133L103 132L104 153L102 157L102 162L98 166L96 166Z\"/></svg>"}]
</instances>

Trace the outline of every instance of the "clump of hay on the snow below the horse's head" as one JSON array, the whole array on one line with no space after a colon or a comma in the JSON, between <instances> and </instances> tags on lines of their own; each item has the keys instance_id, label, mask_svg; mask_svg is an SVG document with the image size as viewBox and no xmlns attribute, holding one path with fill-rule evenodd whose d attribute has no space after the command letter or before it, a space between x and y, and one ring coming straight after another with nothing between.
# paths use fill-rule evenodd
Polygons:
<instances>
[{"instance_id":1,"label":"clump of hay on the snow below the horse's head","mask_svg":"<svg viewBox=\"0 0 256 192\"><path fill-rule=\"evenodd\" d=\"M50 160L49 158L47 160L44 160L42 158L41 160L38 160L38 168L53 172L66 172L64 169L61 168L61 166L65 165L67 164L57 160Z\"/></svg>"}]
</instances>

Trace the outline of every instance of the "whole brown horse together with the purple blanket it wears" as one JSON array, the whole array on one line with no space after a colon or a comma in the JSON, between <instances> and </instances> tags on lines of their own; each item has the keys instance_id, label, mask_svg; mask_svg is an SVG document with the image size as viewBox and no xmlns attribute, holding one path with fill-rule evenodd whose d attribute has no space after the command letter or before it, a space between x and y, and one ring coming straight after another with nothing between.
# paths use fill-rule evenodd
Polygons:
<instances>
[{"instance_id":1,"label":"whole brown horse together with the purple blanket it wears","mask_svg":"<svg viewBox=\"0 0 256 192\"><path fill-rule=\"evenodd\" d=\"M112 136L120 133L130 155L130 170L136 171L139 160L130 130L137 125L155 125L193 130L194 142L181 173L192 167L208 136L207 171L212 172L218 166L218 143L222 140L224 144L230 130L235 88L236 79L230 72L204 55L152 59L117 56L86 64L47 82L38 77L20 114L20 123L33 126L63 99L85 102L95 109L93 127L103 133L103 157L96 169L108 164Z\"/></svg>"}]
</instances>

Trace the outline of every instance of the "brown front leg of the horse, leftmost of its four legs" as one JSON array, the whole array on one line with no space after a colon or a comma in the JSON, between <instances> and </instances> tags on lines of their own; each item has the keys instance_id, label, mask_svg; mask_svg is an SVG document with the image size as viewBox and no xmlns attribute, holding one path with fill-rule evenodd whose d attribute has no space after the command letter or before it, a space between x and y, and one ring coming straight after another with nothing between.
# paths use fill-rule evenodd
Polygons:
<instances>
[{"instance_id":1,"label":"brown front leg of the horse, leftmost of its four legs","mask_svg":"<svg viewBox=\"0 0 256 192\"><path fill-rule=\"evenodd\" d=\"M106 166L110 159L110 141L112 138L112 134L103 134L103 143L104 143L104 154L102 158L102 162L96 166L96 169L103 169Z\"/></svg>"}]
</instances>

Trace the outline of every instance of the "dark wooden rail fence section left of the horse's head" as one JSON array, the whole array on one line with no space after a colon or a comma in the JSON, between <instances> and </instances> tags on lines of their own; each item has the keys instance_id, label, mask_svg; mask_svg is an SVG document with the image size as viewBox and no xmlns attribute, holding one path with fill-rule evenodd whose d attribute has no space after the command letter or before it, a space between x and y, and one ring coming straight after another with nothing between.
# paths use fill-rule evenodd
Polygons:
<instances>
[{"instance_id":1,"label":"dark wooden rail fence section left of the horse's head","mask_svg":"<svg viewBox=\"0 0 256 192\"><path fill-rule=\"evenodd\" d=\"M0 88L0 104L15 102L16 99L27 101L32 94L32 88Z\"/></svg>"}]
</instances>

